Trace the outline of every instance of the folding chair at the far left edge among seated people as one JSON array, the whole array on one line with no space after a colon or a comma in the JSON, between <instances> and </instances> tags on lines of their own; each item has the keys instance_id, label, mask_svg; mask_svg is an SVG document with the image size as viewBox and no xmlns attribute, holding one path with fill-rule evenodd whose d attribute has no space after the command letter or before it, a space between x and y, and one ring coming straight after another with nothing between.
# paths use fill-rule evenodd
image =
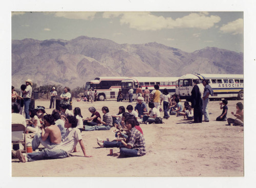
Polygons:
<instances>
[{"instance_id":1,"label":"folding chair at the far left edge among seated people","mask_svg":"<svg viewBox=\"0 0 256 188\"><path fill-rule=\"evenodd\" d=\"M12 124L12 145L23 144L24 149L22 152L27 153L27 142L26 142L26 127L23 124Z\"/></svg>"}]
</instances>

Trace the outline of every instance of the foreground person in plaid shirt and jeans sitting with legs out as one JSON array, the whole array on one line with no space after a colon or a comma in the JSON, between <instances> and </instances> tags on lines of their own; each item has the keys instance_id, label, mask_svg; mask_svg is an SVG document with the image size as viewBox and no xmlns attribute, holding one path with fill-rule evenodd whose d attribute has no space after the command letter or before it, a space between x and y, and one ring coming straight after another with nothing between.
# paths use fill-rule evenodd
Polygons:
<instances>
[{"instance_id":1,"label":"foreground person in plaid shirt and jeans sitting with legs out","mask_svg":"<svg viewBox=\"0 0 256 188\"><path fill-rule=\"evenodd\" d=\"M120 148L119 156L135 157L145 155L145 140L142 133L135 128L136 121L134 119L127 119L125 120L125 125L127 131L129 131L127 139L116 139L116 142L97 142L98 145L105 148Z\"/></svg>"}]
</instances>

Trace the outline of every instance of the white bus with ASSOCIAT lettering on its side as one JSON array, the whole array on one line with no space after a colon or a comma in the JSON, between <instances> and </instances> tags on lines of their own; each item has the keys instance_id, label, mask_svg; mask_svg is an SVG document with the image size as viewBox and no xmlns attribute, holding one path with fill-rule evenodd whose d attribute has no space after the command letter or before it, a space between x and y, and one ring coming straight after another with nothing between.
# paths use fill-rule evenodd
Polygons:
<instances>
[{"instance_id":1,"label":"white bus with ASSOCIAT lettering on its side","mask_svg":"<svg viewBox=\"0 0 256 188\"><path fill-rule=\"evenodd\" d=\"M244 76L243 74L185 74L178 80L176 94L180 99L190 100L193 80L199 79L200 83L204 79L208 80L214 95L209 98L237 98L244 99Z\"/></svg>"}]
</instances>

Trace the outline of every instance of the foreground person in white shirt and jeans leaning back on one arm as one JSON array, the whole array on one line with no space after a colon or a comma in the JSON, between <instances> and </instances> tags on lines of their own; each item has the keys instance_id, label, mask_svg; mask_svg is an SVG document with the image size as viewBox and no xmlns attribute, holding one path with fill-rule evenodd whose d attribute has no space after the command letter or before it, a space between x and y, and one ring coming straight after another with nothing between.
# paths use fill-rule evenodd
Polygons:
<instances>
[{"instance_id":1,"label":"foreground person in white shirt and jeans leaning back on one arm","mask_svg":"<svg viewBox=\"0 0 256 188\"><path fill-rule=\"evenodd\" d=\"M79 129L76 128L77 119L74 116L67 116L65 127L67 128L66 135L61 144L52 149L44 149L39 152L27 153L26 156L20 150L14 151L13 155L19 159L19 162L32 162L34 160L65 158L70 155L72 151L77 152L76 145L80 144L84 157L92 157L86 154L86 148L82 142L82 136Z\"/></svg>"}]
</instances>

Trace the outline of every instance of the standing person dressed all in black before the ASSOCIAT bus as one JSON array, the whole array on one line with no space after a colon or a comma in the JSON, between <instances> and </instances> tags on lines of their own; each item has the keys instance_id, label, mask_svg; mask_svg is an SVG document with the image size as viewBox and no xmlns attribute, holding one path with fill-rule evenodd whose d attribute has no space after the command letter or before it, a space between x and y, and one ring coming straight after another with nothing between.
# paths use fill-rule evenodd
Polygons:
<instances>
[{"instance_id":1,"label":"standing person dressed all in black before the ASSOCIAT bus","mask_svg":"<svg viewBox=\"0 0 256 188\"><path fill-rule=\"evenodd\" d=\"M199 79L194 79L195 86L191 91L191 107L194 108L194 123L202 123L202 98L198 87Z\"/></svg>"}]
</instances>

